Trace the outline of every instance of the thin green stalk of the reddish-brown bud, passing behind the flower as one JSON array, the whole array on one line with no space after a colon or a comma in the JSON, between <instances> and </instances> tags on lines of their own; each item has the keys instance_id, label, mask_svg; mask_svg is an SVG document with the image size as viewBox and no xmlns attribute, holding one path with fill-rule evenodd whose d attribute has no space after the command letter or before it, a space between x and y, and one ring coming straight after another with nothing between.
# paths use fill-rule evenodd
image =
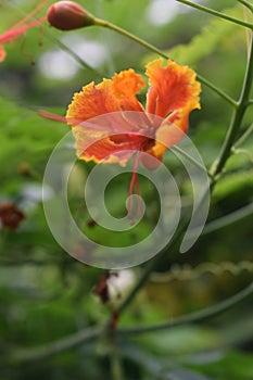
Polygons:
<instances>
[{"instance_id":1,"label":"thin green stalk of the reddish-brown bud, passing behind the flower","mask_svg":"<svg viewBox=\"0 0 253 380\"><path fill-rule=\"evenodd\" d=\"M111 30L114 30L129 39L131 39L132 41L141 45L142 47L147 48L148 50L159 54L160 56L164 58L165 60L169 60L169 56L164 53L161 49L155 48L153 45L147 42L146 40L143 40L142 38L137 37L136 35L131 34L128 30L125 30L123 28L121 28L117 25L114 25L105 20L101 20L101 18L97 18L94 17L94 25L97 26L102 26L105 28L109 28ZM222 98L224 98L228 103L230 103L233 106L237 106L237 102L230 98L227 93L225 93L223 90L220 90L218 87L216 87L215 85L213 85L212 83L210 83L207 79L205 79L204 77L202 77L201 75L197 75L197 78L206 87L208 87L210 89L212 89L214 92L216 92L218 96L220 96Z\"/></svg>"}]
</instances>

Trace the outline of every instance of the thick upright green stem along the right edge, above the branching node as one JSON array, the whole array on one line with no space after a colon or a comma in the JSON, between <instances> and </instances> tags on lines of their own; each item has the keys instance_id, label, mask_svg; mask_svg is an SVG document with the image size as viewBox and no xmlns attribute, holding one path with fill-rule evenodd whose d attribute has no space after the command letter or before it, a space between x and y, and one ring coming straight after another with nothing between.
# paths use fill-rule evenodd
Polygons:
<instances>
[{"instance_id":1,"label":"thick upright green stem along the right edge, above the branching node","mask_svg":"<svg viewBox=\"0 0 253 380\"><path fill-rule=\"evenodd\" d=\"M253 80L253 36L251 36L251 48L249 54L249 61L246 65L244 81L238 102L238 107L233 111L230 126L228 128L226 138L224 140L219 157L215 164L211 167L210 174L213 178L213 183L216 181L217 177L222 174L224 166L231 154L232 144L237 138L238 131L241 127L241 123L249 105L249 97Z\"/></svg>"}]
</instances>

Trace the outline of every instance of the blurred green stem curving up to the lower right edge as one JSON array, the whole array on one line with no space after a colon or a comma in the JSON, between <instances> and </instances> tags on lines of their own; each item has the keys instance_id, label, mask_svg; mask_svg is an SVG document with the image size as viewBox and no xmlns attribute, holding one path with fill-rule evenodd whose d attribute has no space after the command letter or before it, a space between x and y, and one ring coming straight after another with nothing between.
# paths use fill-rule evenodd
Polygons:
<instances>
[{"instance_id":1,"label":"blurred green stem curving up to the lower right edge","mask_svg":"<svg viewBox=\"0 0 253 380\"><path fill-rule=\"evenodd\" d=\"M239 302L242 302L243 300L245 300L252 294L253 294L253 282L249 287L241 290L239 293L232 295L231 297L226 299L225 301L222 301L218 304L206 307L199 312L184 315L182 317L176 318L174 320L172 319L164 324L157 324L152 326L136 326L134 328L124 328L124 329L122 328L122 329L117 329L116 332L118 334L147 333L147 332L159 331L164 329L172 329L176 326L200 322L226 312L227 309L233 307L236 304L238 304Z\"/></svg>"}]
</instances>

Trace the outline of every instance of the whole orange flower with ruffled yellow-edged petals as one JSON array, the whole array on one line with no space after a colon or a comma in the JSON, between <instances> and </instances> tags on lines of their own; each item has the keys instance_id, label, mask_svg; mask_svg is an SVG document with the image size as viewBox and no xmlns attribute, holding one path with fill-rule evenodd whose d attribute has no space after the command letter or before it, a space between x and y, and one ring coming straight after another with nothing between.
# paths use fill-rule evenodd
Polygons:
<instances>
[{"instance_id":1,"label":"whole orange flower with ruffled yellow-edged petals","mask_svg":"<svg viewBox=\"0 0 253 380\"><path fill-rule=\"evenodd\" d=\"M79 159L124 165L138 151L162 161L167 148L184 138L190 112L200 109L195 73L170 60L163 66L160 59L147 65L146 74L146 111L136 98L144 81L131 68L74 94L66 119ZM140 160L152 168L147 155Z\"/></svg>"}]
</instances>

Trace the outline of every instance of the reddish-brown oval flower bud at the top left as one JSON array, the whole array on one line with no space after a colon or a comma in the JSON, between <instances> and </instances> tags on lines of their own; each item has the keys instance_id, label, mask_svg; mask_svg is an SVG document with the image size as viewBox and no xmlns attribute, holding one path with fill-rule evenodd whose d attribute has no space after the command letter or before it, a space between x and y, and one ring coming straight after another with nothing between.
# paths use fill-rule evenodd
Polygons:
<instances>
[{"instance_id":1,"label":"reddish-brown oval flower bud at the top left","mask_svg":"<svg viewBox=\"0 0 253 380\"><path fill-rule=\"evenodd\" d=\"M52 4L47 18L60 30L73 30L94 24L94 17L75 1L58 1Z\"/></svg>"}]
</instances>

